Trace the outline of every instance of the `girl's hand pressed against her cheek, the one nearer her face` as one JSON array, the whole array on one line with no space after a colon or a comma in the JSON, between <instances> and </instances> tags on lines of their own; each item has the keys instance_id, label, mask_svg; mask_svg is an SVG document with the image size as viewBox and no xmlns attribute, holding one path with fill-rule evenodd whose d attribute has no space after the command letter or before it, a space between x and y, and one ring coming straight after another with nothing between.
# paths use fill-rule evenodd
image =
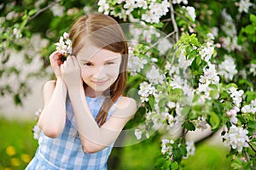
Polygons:
<instances>
[{"instance_id":1,"label":"girl's hand pressed against her cheek, the one nearer her face","mask_svg":"<svg viewBox=\"0 0 256 170\"><path fill-rule=\"evenodd\" d=\"M79 88L80 85L83 85L79 61L75 56L68 56L61 65L61 77L67 88Z\"/></svg>"}]
</instances>

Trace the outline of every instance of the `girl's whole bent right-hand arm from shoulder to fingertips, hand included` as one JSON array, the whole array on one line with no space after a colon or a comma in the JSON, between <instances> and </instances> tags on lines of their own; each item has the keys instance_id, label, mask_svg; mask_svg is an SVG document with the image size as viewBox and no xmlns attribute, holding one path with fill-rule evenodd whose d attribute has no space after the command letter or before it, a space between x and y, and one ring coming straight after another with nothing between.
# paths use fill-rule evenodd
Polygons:
<instances>
[{"instance_id":1,"label":"girl's whole bent right-hand arm from shoulder to fingertips, hand included","mask_svg":"<svg viewBox=\"0 0 256 170\"><path fill-rule=\"evenodd\" d=\"M87 105L80 67L75 57L67 57L61 65L61 75L66 83L69 98L73 105L74 116L84 151L93 153L103 150L118 138L119 133L137 111L134 99L122 97L112 116L99 127Z\"/></svg>"}]
</instances>

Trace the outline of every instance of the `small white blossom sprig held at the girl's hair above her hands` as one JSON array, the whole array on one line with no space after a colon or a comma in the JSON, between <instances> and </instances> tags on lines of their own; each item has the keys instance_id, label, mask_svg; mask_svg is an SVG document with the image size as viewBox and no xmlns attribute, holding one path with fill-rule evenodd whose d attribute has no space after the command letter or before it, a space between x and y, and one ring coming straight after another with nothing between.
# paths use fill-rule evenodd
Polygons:
<instances>
[{"instance_id":1,"label":"small white blossom sprig held at the girl's hair above her hands","mask_svg":"<svg viewBox=\"0 0 256 170\"><path fill-rule=\"evenodd\" d=\"M64 57L72 54L72 41L69 39L69 34L64 32L60 37L60 41L55 43L57 52L63 54Z\"/></svg>"}]
</instances>

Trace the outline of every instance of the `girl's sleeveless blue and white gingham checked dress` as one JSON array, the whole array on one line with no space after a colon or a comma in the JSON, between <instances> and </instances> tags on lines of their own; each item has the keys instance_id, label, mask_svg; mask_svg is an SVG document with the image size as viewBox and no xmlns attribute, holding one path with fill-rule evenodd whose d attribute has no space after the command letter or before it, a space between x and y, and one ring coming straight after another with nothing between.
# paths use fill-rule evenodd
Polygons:
<instances>
[{"instance_id":1,"label":"girl's sleeveless blue and white gingham checked dress","mask_svg":"<svg viewBox=\"0 0 256 170\"><path fill-rule=\"evenodd\" d=\"M87 104L94 118L96 118L104 98L104 96L97 98L86 97ZM118 100L108 111L107 120L113 113ZM113 144L96 153L84 152L69 99L67 99L66 110L66 124L63 132L55 139L49 138L41 132L38 139L38 150L26 167L26 170L108 169L107 161Z\"/></svg>"}]
</instances>

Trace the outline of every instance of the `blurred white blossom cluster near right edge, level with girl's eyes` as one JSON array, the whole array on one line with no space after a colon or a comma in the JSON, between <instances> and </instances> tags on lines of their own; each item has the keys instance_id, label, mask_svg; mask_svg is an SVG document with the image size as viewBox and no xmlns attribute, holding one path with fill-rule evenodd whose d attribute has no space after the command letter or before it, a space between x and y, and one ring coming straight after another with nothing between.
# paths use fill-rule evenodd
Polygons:
<instances>
[{"instance_id":1,"label":"blurred white blossom cluster near right edge, level with girl's eyes","mask_svg":"<svg viewBox=\"0 0 256 170\"><path fill-rule=\"evenodd\" d=\"M237 74L235 60L230 55L224 55L224 61L218 65L218 73L225 78L225 80L232 80Z\"/></svg>"}]
</instances>

